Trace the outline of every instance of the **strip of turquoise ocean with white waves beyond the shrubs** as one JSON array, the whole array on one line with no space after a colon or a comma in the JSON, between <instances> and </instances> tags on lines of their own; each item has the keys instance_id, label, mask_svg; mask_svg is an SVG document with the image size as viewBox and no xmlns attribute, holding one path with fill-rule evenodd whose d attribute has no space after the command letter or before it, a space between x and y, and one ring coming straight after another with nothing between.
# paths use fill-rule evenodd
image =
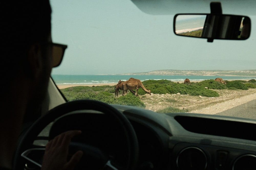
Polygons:
<instances>
[{"instance_id":1,"label":"strip of turquoise ocean with white waves beyond the shrubs","mask_svg":"<svg viewBox=\"0 0 256 170\"><path fill-rule=\"evenodd\" d=\"M223 80L251 80L256 76L179 76L179 75L51 75L56 84L102 84L118 83L119 80L126 81L133 77L140 81L146 80L170 80L173 82L184 81L188 78L190 81L203 81L215 79L217 77Z\"/></svg>"}]
</instances>

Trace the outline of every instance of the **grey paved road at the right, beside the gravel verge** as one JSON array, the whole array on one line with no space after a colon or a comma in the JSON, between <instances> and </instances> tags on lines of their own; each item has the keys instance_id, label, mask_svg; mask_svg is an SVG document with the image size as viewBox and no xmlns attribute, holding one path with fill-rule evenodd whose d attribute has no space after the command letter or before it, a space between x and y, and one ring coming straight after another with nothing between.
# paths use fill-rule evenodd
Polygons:
<instances>
[{"instance_id":1,"label":"grey paved road at the right, beside the gravel verge","mask_svg":"<svg viewBox=\"0 0 256 170\"><path fill-rule=\"evenodd\" d=\"M256 119L256 99L217 113L216 115Z\"/></svg>"}]
</instances>

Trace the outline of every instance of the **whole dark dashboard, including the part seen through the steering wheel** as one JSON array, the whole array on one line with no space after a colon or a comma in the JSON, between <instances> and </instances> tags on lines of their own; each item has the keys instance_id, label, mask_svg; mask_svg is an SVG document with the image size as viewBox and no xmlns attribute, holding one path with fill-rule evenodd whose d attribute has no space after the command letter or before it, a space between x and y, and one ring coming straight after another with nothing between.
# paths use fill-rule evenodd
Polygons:
<instances>
[{"instance_id":1,"label":"whole dark dashboard, including the part seen through the steering wheel","mask_svg":"<svg viewBox=\"0 0 256 170\"><path fill-rule=\"evenodd\" d=\"M254 120L189 113L159 114L132 106L111 106L122 112L134 128L139 148L138 170L256 167ZM122 124L99 111L74 111L51 123L49 140L75 129L82 130L82 134L72 142L99 148L120 167L126 163L128 157L124 153L129 147ZM88 161L92 166L97 165L97 161L83 160Z\"/></svg>"}]
</instances>

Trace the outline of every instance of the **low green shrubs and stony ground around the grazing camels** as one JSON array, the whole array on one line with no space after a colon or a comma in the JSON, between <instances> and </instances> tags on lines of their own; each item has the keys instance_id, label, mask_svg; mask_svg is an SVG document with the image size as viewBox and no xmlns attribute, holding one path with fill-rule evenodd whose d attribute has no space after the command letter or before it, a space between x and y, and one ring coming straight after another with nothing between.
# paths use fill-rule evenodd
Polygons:
<instances>
[{"instance_id":1,"label":"low green shrubs and stony ground around the grazing camels","mask_svg":"<svg viewBox=\"0 0 256 170\"><path fill-rule=\"evenodd\" d=\"M151 104L154 106L170 106L175 105L175 107L167 107L165 109L155 109L157 112L187 112L187 109L181 109L185 104L189 104L191 100L193 102L200 103L205 106L201 97L192 98L193 96L202 97L219 97L219 91L223 90L248 90L248 88L255 89L256 81L254 79L250 81L226 81L227 84L221 84L214 80L205 80L197 83L191 83L191 85L184 83L175 83L169 80L147 80L143 82L145 88L150 89L153 95L145 95L144 90L140 88L138 90L139 97L133 95L128 91L126 96L122 96L122 91L119 92L119 97L114 97L115 90L114 86L103 85L103 86L75 86L65 89L60 89L63 95L68 101L80 100L80 99L91 99L99 100L108 104L120 104L128 106L137 106L145 108L146 105ZM208 88L205 88L208 87ZM181 95L176 95L176 94ZM169 94L169 95L166 95ZM186 99L182 101L181 98ZM168 96L168 97L167 97ZM175 97L174 97L175 96ZM152 98L153 97L153 98ZM202 100L202 101L201 101ZM212 99L211 99L212 100ZM145 104L146 105L145 105ZM170 105L167 105L170 104ZM190 104L191 105L191 104ZM178 108L177 108L178 107ZM188 108L189 106L185 107ZM176 110L178 109L178 110ZM190 109L191 110L191 109Z\"/></svg>"}]
</instances>

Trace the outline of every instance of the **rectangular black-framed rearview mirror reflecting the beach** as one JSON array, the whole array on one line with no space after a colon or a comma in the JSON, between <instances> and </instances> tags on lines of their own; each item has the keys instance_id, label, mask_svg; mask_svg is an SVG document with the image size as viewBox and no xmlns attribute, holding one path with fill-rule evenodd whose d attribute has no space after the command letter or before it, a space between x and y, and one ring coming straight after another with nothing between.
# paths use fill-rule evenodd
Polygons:
<instances>
[{"instance_id":1,"label":"rectangular black-framed rearview mirror reflecting the beach","mask_svg":"<svg viewBox=\"0 0 256 170\"><path fill-rule=\"evenodd\" d=\"M246 40L251 32L251 20L239 15L176 14L173 27L179 36Z\"/></svg>"}]
</instances>

